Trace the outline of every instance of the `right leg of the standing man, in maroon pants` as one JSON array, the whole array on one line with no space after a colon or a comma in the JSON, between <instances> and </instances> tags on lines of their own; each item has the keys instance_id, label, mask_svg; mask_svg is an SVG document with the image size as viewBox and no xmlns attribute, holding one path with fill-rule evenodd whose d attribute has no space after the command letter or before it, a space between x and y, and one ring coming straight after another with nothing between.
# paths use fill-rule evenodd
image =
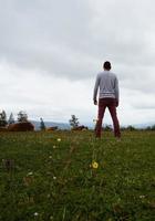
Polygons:
<instances>
[{"instance_id":1,"label":"right leg of the standing man, in maroon pants","mask_svg":"<svg viewBox=\"0 0 155 221\"><path fill-rule=\"evenodd\" d=\"M116 114L116 106L115 106L115 102L112 102L108 105L108 110L111 113L112 119L113 119L113 125L114 125L114 135L115 137L121 137L121 131L120 131L120 123L117 119L117 114Z\"/></svg>"}]
</instances>

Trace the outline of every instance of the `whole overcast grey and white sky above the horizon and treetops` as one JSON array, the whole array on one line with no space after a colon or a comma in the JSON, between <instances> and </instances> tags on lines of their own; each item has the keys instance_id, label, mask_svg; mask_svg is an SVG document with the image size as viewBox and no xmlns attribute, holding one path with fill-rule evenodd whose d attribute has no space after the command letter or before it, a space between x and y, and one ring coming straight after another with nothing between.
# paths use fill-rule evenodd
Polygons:
<instances>
[{"instance_id":1,"label":"whole overcast grey and white sky above the horizon and treetops","mask_svg":"<svg viewBox=\"0 0 155 221\"><path fill-rule=\"evenodd\" d=\"M0 110L92 123L107 60L120 81L121 124L155 123L154 24L154 0L0 0Z\"/></svg>"}]
</instances>

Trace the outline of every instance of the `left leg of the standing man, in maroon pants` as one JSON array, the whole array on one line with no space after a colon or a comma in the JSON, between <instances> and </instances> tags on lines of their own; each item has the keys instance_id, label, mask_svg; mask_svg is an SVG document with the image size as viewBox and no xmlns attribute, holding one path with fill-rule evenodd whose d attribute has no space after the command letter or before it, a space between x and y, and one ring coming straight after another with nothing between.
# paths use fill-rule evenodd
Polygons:
<instances>
[{"instance_id":1,"label":"left leg of the standing man, in maroon pants","mask_svg":"<svg viewBox=\"0 0 155 221\"><path fill-rule=\"evenodd\" d=\"M97 122L96 122L96 126L95 126L95 136L96 137L101 137L101 131L102 131L102 119L104 116L104 112L105 112L105 103L103 99L100 99L99 102L99 114L97 114Z\"/></svg>"}]
</instances>

